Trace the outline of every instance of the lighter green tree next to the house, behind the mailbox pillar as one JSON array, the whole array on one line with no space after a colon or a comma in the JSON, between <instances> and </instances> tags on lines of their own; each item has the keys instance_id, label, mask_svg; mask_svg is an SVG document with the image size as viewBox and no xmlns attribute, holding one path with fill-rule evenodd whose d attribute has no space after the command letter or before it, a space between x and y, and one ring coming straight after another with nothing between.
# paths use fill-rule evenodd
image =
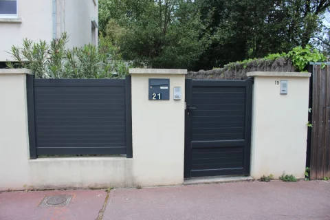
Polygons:
<instances>
[{"instance_id":1,"label":"lighter green tree next to the house, behind the mailbox pillar","mask_svg":"<svg viewBox=\"0 0 330 220\"><path fill-rule=\"evenodd\" d=\"M198 5L186 0L113 0L104 32L126 60L155 68L197 63L208 41ZM205 34L204 34L205 35Z\"/></svg>"}]
</instances>

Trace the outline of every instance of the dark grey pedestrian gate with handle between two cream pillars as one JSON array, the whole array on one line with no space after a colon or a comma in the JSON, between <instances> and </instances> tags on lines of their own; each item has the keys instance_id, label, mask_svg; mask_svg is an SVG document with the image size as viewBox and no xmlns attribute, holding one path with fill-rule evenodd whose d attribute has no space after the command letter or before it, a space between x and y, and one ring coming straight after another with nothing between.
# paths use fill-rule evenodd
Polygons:
<instances>
[{"instance_id":1,"label":"dark grey pedestrian gate with handle between two cream pillars","mask_svg":"<svg viewBox=\"0 0 330 220\"><path fill-rule=\"evenodd\" d=\"M252 82L186 80L184 177L250 175Z\"/></svg>"}]
</instances>

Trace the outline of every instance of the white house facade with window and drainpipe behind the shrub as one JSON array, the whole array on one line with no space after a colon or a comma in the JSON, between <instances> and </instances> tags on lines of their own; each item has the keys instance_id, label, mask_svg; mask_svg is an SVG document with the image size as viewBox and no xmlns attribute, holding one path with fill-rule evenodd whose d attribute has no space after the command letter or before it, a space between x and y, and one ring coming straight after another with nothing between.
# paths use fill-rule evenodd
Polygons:
<instances>
[{"instance_id":1,"label":"white house facade with window and drainpipe behind the shrub","mask_svg":"<svg viewBox=\"0 0 330 220\"><path fill-rule=\"evenodd\" d=\"M98 0L0 0L0 63L12 45L52 41L67 32L67 47L98 43Z\"/></svg>"}]
</instances>

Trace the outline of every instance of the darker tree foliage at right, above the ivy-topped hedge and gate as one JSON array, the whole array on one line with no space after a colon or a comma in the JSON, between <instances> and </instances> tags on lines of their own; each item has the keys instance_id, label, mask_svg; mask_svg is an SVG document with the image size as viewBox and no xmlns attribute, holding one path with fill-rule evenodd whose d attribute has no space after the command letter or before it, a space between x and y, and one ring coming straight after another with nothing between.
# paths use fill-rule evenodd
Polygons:
<instances>
[{"instance_id":1,"label":"darker tree foliage at right, above the ivy-topped hedge and gate","mask_svg":"<svg viewBox=\"0 0 330 220\"><path fill-rule=\"evenodd\" d=\"M211 17L212 43L198 67L217 67L245 58L305 47L320 31L330 1L198 0Z\"/></svg>"}]
</instances>

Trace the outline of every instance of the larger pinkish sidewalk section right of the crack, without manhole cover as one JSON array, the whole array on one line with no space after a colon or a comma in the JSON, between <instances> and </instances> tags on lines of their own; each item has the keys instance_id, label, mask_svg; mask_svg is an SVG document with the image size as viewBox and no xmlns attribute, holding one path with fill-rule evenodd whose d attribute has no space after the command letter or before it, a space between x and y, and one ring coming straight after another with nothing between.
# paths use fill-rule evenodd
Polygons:
<instances>
[{"instance_id":1,"label":"larger pinkish sidewalk section right of the crack, without manhole cover","mask_svg":"<svg viewBox=\"0 0 330 220\"><path fill-rule=\"evenodd\" d=\"M104 220L330 219L330 182L238 182L111 190Z\"/></svg>"}]
</instances>

